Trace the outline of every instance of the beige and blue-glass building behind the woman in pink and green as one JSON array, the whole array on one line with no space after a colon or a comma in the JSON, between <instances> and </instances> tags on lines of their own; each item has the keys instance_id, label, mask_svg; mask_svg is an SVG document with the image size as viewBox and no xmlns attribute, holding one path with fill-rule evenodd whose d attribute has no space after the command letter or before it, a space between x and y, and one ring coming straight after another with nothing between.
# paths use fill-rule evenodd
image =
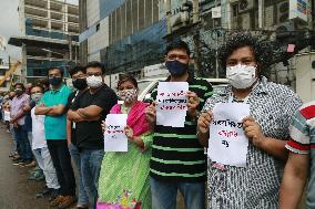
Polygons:
<instances>
[{"instance_id":1,"label":"beige and blue-glass building behind the woman in pink and green","mask_svg":"<svg viewBox=\"0 0 315 209\"><path fill-rule=\"evenodd\" d=\"M80 0L81 62L100 61L108 83L118 73L143 74L161 63L165 48L165 20L159 19L159 0Z\"/></svg>"}]
</instances>

